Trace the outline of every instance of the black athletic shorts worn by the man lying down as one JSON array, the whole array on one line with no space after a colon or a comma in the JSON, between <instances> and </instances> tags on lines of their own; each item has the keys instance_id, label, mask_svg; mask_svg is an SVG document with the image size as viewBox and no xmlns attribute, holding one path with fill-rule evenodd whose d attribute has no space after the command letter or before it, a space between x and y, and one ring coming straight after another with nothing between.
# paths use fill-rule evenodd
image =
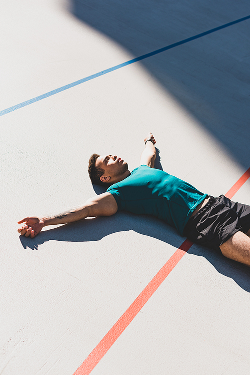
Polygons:
<instances>
[{"instance_id":1,"label":"black athletic shorts worn by the man lying down","mask_svg":"<svg viewBox=\"0 0 250 375\"><path fill-rule=\"evenodd\" d=\"M234 233L250 229L250 206L234 203L224 195L207 198L204 207L189 218L183 235L194 243L220 250L219 246Z\"/></svg>"}]
</instances>

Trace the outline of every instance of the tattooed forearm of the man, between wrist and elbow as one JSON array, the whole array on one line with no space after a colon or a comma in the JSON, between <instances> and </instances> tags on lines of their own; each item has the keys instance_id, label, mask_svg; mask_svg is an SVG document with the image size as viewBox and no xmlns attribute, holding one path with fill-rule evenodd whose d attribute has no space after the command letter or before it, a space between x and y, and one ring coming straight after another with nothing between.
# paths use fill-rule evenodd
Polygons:
<instances>
[{"instance_id":1,"label":"tattooed forearm of the man, between wrist and elbow","mask_svg":"<svg viewBox=\"0 0 250 375\"><path fill-rule=\"evenodd\" d=\"M44 226L66 224L85 219L88 215L89 207L84 204L82 206L71 208L59 214L43 216L41 217L41 220L44 222Z\"/></svg>"}]
</instances>

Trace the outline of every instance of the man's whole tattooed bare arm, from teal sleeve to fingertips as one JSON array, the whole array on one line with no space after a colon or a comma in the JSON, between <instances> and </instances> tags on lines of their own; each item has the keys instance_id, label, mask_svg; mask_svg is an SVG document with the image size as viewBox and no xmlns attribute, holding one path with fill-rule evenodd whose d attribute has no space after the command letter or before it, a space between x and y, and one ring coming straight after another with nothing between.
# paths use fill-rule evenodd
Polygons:
<instances>
[{"instance_id":1,"label":"man's whole tattooed bare arm, from teal sleeve to fingertips","mask_svg":"<svg viewBox=\"0 0 250 375\"><path fill-rule=\"evenodd\" d=\"M103 193L88 199L82 206L72 208L60 214L25 217L18 221L24 223L17 232L25 237L35 237L44 226L72 223L93 216L111 216L117 211L117 204L110 193Z\"/></svg>"}]
</instances>

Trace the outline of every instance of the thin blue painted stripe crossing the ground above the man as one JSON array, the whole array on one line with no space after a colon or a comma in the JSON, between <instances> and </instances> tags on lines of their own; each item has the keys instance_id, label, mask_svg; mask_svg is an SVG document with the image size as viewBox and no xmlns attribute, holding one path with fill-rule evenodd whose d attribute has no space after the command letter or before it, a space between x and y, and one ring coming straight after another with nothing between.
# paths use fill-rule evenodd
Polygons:
<instances>
[{"instance_id":1,"label":"thin blue painted stripe crossing the ground above the man","mask_svg":"<svg viewBox=\"0 0 250 375\"><path fill-rule=\"evenodd\" d=\"M193 41L193 40L195 40L195 39L198 39L198 38L204 37L205 35L208 35L208 34L214 33L215 31L218 31L218 30L221 30L221 29L227 28L228 26L238 24L239 22L242 22L242 21L245 21L245 20L248 20L248 19L250 19L250 16L246 16L246 17L240 18L240 19L238 19L238 20L235 20L235 21L232 21L232 22L228 22L227 24L224 24L224 25L218 26L217 28L214 28L214 29L211 29L211 30L205 31L204 33L197 34L197 35L195 35L195 36L193 36L193 37L190 37L190 38L187 38L187 39L183 39L183 40L180 41L180 42L176 42L176 43L170 44L169 46L166 46L166 47L160 48L159 50L155 50L155 51L153 51L153 52L149 52L148 54L145 54L145 55L142 55L142 56L136 57L135 59L132 59L132 60L126 61L125 63L119 64L119 65L115 65L115 66L112 67L112 68L108 68L108 69L103 70L103 71L101 71L101 72L99 72L99 73L96 73L96 74L93 74L93 75L91 75L91 76L88 76L88 77L82 78L81 80L78 80L78 81L72 82L72 83L70 83L70 84L68 84L68 85L65 85L65 86L59 87L58 89L55 89L55 90L49 91L49 92L46 93L46 94L42 94L42 95L36 96L36 97L33 98L33 99L26 100L25 102L22 102L22 103L16 104L16 105L13 106L13 107L9 107L9 108L7 108L7 109L4 109L4 110L2 110L2 111L0 112L0 116L5 115L5 114L7 114L7 113L9 113L9 112L15 111L15 110L17 110L17 109L19 109L19 108L22 108L22 107L28 106L29 104L32 104L32 103L38 102L39 100L42 100L42 99L48 98L48 97L51 96L51 95L58 94L58 93L60 93L61 91L64 91L64 90L70 89L71 87L74 87L74 86L80 85L80 84L83 83L83 82L87 82L87 81L93 80L94 78L97 78L97 77L103 76L104 74L107 74L107 73L113 72L114 70L117 70L117 69L120 69L120 68L123 68L123 67L125 67L126 65L130 65L130 64L136 63L136 62L138 62L138 61L141 61L141 60L147 59L148 57L151 57L151 56L154 56L154 55L160 54L161 52L164 52L164 51L170 50L171 48L174 48L174 47L180 46L180 45L182 45L182 44L184 44L184 43L191 42L191 41Z\"/></svg>"}]
</instances>

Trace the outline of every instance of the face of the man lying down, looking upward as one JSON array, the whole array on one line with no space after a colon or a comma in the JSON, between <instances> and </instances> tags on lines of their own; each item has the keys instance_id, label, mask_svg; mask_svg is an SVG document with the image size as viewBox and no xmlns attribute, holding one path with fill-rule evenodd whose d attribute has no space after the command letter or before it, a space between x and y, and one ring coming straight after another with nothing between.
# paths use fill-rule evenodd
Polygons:
<instances>
[{"instance_id":1,"label":"face of the man lying down, looking upward","mask_svg":"<svg viewBox=\"0 0 250 375\"><path fill-rule=\"evenodd\" d=\"M127 163L116 155L102 155L96 159L96 168L104 169L103 176L109 176L110 180L118 178L127 171Z\"/></svg>"}]
</instances>

